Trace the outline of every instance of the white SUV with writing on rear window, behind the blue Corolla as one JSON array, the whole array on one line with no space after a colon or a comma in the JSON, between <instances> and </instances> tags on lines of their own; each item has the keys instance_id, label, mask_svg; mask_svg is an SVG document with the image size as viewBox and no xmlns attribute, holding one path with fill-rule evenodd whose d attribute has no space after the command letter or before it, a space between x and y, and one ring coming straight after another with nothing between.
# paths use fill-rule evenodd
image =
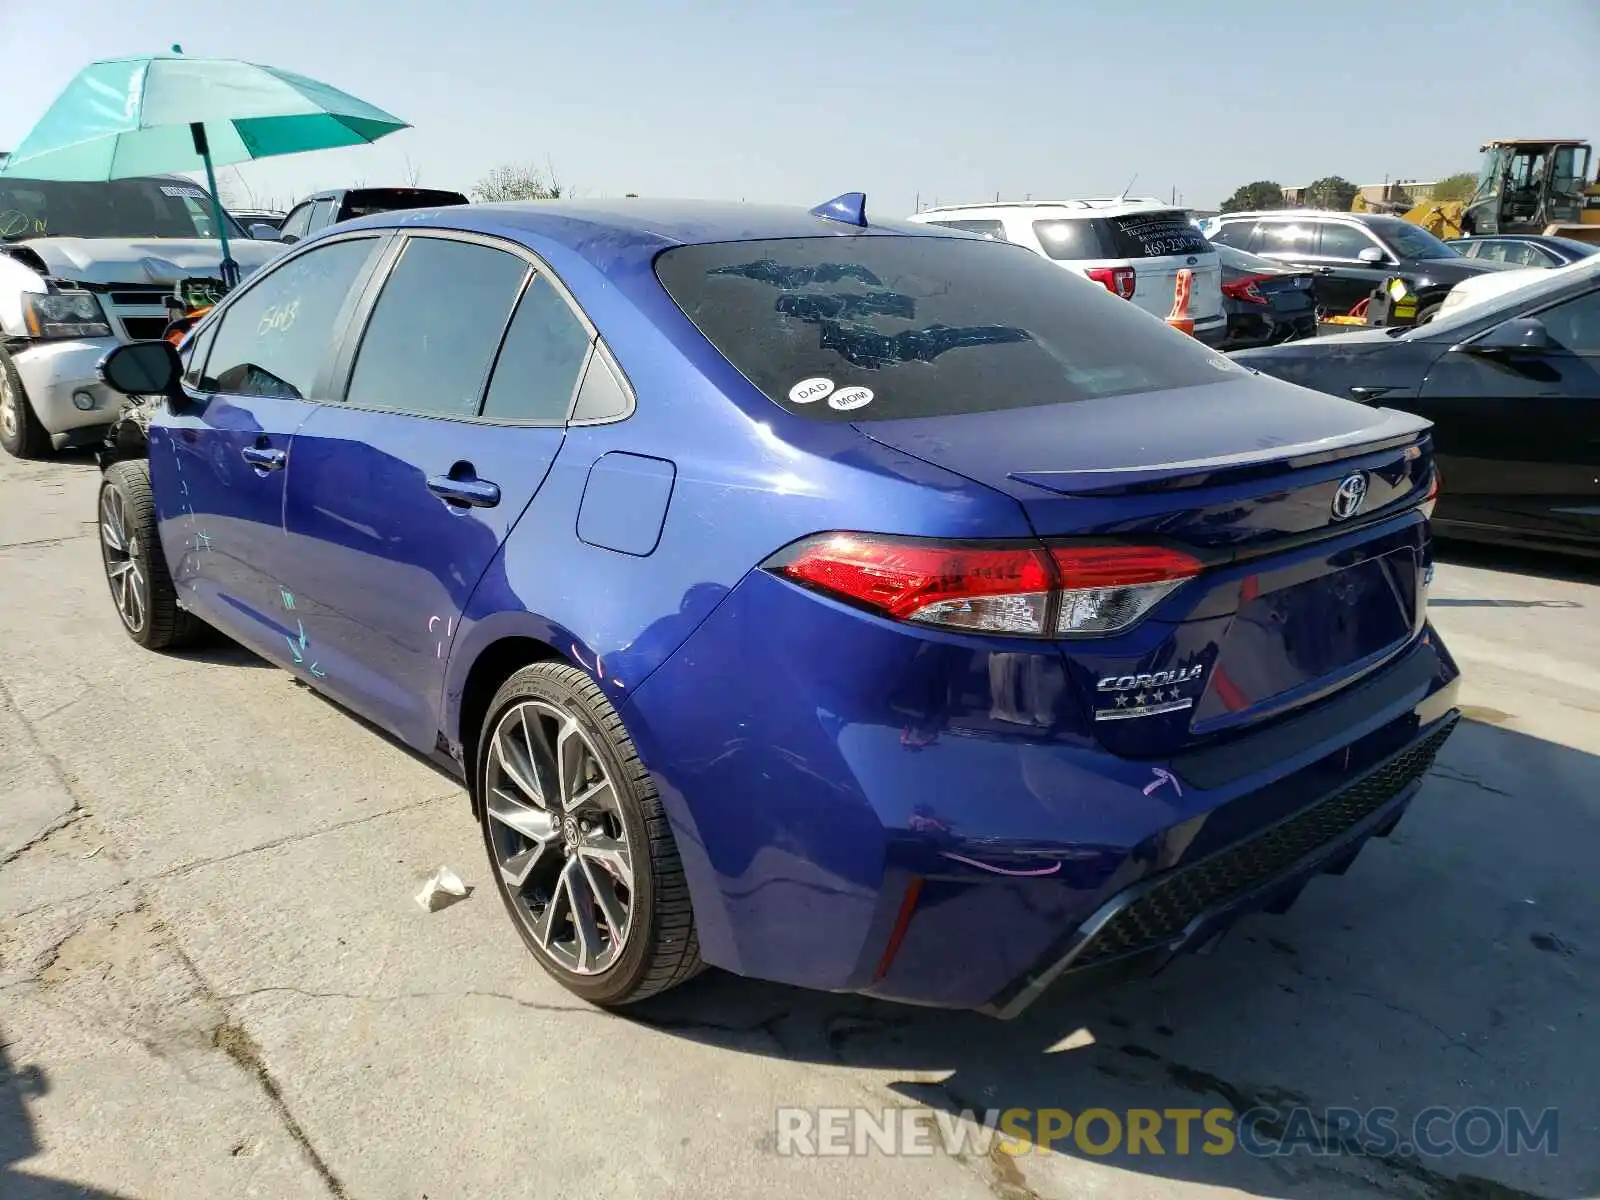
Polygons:
<instances>
[{"instance_id":1,"label":"white SUV with writing on rear window, behind the blue Corolla","mask_svg":"<svg viewBox=\"0 0 1600 1200\"><path fill-rule=\"evenodd\" d=\"M1189 317L1206 346L1227 334L1222 267L1189 213L1155 198L1029 200L949 205L910 218L925 226L965 229L1014 242L1075 270L1106 290L1166 318L1178 272L1194 272Z\"/></svg>"}]
</instances>

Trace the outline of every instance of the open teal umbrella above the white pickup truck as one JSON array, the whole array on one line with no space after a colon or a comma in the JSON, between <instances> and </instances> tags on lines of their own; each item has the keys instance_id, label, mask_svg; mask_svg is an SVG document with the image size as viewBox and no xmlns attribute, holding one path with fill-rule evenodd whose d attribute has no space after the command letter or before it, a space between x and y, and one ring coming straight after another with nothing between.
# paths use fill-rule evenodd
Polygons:
<instances>
[{"instance_id":1,"label":"open teal umbrella above the white pickup truck","mask_svg":"<svg viewBox=\"0 0 1600 1200\"><path fill-rule=\"evenodd\" d=\"M0 176L99 181L205 171L222 280L238 282L227 248L216 168L301 150L374 142L410 128L338 88L291 70L227 58L171 54L91 62L0 165Z\"/></svg>"}]
</instances>

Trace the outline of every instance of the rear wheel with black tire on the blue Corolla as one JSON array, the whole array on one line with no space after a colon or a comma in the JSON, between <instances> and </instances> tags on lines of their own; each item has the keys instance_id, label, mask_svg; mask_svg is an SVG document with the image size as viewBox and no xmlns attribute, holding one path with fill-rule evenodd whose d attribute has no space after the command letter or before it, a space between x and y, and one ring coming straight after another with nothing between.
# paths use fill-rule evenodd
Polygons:
<instances>
[{"instance_id":1,"label":"rear wheel with black tire on the blue Corolla","mask_svg":"<svg viewBox=\"0 0 1600 1200\"><path fill-rule=\"evenodd\" d=\"M698 974L699 936L666 810L589 675L565 662L515 672L477 746L490 870L539 965L600 1006Z\"/></svg>"}]
</instances>

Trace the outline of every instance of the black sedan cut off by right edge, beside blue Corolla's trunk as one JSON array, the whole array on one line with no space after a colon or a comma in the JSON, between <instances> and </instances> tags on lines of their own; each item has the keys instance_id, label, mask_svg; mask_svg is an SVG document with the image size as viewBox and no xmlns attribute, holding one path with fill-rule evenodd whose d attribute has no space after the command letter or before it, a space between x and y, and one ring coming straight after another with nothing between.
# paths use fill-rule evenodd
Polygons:
<instances>
[{"instance_id":1,"label":"black sedan cut off by right edge, beside blue Corolla's trunk","mask_svg":"<svg viewBox=\"0 0 1600 1200\"><path fill-rule=\"evenodd\" d=\"M1600 256L1430 325L1232 357L1430 419L1440 533L1600 554Z\"/></svg>"}]
</instances>

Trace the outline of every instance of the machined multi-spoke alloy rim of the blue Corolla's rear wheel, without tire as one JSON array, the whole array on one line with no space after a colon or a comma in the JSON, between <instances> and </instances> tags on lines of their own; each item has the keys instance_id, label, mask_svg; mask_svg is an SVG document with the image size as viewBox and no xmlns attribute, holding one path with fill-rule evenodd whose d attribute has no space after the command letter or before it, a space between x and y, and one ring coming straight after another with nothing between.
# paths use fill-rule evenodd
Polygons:
<instances>
[{"instance_id":1,"label":"machined multi-spoke alloy rim of the blue Corolla's rear wheel, without tire","mask_svg":"<svg viewBox=\"0 0 1600 1200\"><path fill-rule=\"evenodd\" d=\"M522 701L485 747L490 846L512 909L557 966L600 974L634 920L634 854L614 782L576 717Z\"/></svg>"}]
</instances>

